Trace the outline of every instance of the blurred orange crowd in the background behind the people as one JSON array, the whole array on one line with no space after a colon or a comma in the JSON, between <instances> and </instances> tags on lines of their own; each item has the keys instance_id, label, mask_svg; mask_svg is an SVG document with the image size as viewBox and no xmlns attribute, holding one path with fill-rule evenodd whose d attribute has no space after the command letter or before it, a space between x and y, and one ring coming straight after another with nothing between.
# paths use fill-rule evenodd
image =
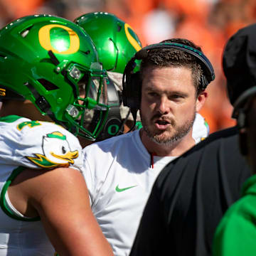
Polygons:
<instances>
[{"instance_id":1,"label":"blurred orange crowd in the background behind the people","mask_svg":"<svg viewBox=\"0 0 256 256\"><path fill-rule=\"evenodd\" d=\"M0 0L0 26L30 14L54 14L71 21L105 11L129 23L143 46L167 38L188 38L201 46L215 69L201 114L215 132L235 124L221 68L223 47L239 28L256 20L255 0Z\"/></svg>"}]
</instances>

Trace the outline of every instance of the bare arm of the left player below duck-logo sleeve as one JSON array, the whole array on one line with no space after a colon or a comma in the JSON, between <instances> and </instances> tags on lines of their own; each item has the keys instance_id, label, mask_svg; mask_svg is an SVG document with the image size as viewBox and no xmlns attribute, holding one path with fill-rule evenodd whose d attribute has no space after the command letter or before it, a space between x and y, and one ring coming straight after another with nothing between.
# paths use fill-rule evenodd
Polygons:
<instances>
[{"instance_id":1,"label":"bare arm of the left player below duck-logo sleeve","mask_svg":"<svg viewBox=\"0 0 256 256\"><path fill-rule=\"evenodd\" d=\"M92 214L87 186L79 171L26 170L19 176L23 181L16 183L28 198L28 211L36 209L60 256L113 255Z\"/></svg>"}]
</instances>

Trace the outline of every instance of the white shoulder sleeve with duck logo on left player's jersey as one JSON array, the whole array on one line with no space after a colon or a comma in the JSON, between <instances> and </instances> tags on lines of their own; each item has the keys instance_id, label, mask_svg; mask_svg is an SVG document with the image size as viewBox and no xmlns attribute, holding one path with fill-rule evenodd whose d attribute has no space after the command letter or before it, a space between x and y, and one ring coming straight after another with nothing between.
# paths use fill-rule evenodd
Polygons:
<instances>
[{"instance_id":1,"label":"white shoulder sleeve with duck logo on left player's jersey","mask_svg":"<svg viewBox=\"0 0 256 256\"><path fill-rule=\"evenodd\" d=\"M82 148L78 139L50 122L21 118L2 124L0 164L30 169L71 167L82 169Z\"/></svg>"}]
</instances>

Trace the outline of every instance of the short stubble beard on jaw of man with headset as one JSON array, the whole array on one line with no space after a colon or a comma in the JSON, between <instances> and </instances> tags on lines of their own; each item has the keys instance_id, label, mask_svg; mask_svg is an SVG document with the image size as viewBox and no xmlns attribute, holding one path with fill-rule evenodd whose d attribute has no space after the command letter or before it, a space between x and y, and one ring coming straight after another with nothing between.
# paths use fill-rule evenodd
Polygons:
<instances>
[{"instance_id":1,"label":"short stubble beard on jaw of man with headset","mask_svg":"<svg viewBox=\"0 0 256 256\"><path fill-rule=\"evenodd\" d=\"M163 145L163 146L170 146L172 144L174 144L175 142L177 142L178 140L182 139L183 137L186 136L186 134L188 134L188 132L190 132L190 130L193 127L193 123L196 119L196 110L194 110L193 112L193 116L191 117L191 119L186 120L186 122L184 122L183 124L181 124L180 126L177 127L176 122L171 119L171 129L174 130L174 133L171 134L169 137L164 136L164 132L153 132L149 129L149 122L144 118L144 114L142 113L142 111L140 112L141 115L141 119L142 119L142 126L144 131L146 132L146 136L149 137L149 139L151 139L152 142L159 144L159 145ZM152 121L151 121L152 122ZM168 131L170 132L171 129L168 129Z\"/></svg>"}]
</instances>

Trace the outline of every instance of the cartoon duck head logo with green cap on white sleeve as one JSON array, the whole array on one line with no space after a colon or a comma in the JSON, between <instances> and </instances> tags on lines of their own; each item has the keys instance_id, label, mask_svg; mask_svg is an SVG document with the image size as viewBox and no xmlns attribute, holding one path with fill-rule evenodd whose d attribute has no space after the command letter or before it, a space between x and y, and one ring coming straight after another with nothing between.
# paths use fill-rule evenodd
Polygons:
<instances>
[{"instance_id":1,"label":"cartoon duck head logo with green cap on white sleeve","mask_svg":"<svg viewBox=\"0 0 256 256\"><path fill-rule=\"evenodd\" d=\"M71 151L68 141L61 132L52 132L43 136L43 154L36 157L26 156L42 168L68 167L78 158L78 150Z\"/></svg>"}]
</instances>

